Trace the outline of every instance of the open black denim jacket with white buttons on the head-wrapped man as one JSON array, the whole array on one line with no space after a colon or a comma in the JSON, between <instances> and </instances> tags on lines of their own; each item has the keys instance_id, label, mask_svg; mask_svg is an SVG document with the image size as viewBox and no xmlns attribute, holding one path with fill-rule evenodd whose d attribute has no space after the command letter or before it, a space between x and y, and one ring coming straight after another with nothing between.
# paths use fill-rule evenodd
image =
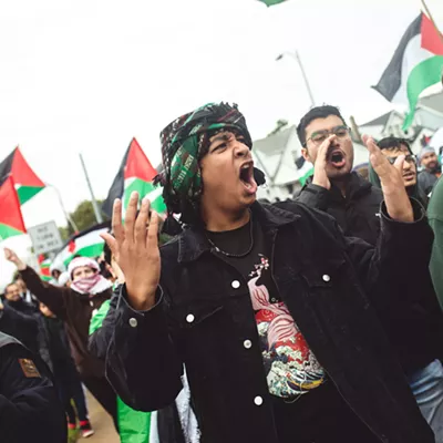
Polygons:
<instances>
[{"instance_id":1,"label":"open black denim jacket with white buttons on the head-wrapped man","mask_svg":"<svg viewBox=\"0 0 443 443\"><path fill-rule=\"evenodd\" d=\"M284 205L255 204L254 216L271 246L280 297L330 380L381 442L434 442L373 309L392 306L385 295L398 293L404 264L429 259L423 208L413 203L415 223L403 224L382 207L374 249L343 237L327 214ZM124 287L115 297L106 373L128 405L152 411L172 403L184 363L203 442L277 443L247 282L199 230L162 248L153 309L133 310Z\"/></svg>"}]
</instances>

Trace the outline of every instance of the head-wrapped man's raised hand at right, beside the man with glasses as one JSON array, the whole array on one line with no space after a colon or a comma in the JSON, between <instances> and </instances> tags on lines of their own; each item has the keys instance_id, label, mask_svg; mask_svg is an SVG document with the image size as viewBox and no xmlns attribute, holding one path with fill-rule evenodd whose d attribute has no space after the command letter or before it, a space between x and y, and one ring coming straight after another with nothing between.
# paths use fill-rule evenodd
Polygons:
<instances>
[{"instance_id":1,"label":"head-wrapped man's raised hand at right, beside the man with glasses","mask_svg":"<svg viewBox=\"0 0 443 443\"><path fill-rule=\"evenodd\" d=\"M412 223L414 213L402 178L404 155L399 155L391 165L372 137L363 135L363 142L369 151L369 161L380 177L388 214L394 220Z\"/></svg>"}]
</instances>

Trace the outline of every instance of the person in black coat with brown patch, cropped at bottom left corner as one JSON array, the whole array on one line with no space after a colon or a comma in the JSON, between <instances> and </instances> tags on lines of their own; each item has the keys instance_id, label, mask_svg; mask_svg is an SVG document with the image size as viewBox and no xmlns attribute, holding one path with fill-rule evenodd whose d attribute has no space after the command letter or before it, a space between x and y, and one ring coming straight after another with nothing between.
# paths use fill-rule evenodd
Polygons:
<instances>
[{"instance_id":1,"label":"person in black coat with brown patch, cropped at bottom left corner","mask_svg":"<svg viewBox=\"0 0 443 443\"><path fill-rule=\"evenodd\" d=\"M66 442L66 419L48 367L0 332L0 440Z\"/></svg>"}]
</instances>

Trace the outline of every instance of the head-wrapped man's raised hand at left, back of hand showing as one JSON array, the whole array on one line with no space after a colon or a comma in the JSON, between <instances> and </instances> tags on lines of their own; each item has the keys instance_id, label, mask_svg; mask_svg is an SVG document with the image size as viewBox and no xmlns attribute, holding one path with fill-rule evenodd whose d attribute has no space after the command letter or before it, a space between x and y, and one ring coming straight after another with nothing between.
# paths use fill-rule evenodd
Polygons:
<instances>
[{"instance_id":1,"label":"head-wrapped man's raised hand at left, back of hand showing","mask_svg":"<svg viewBox=\"0 0 443 443\"><path fill-rule=\"evenodd\" d=\"M103 234L102 237L124 274L131 306L147 310L155 305L159 282L158 215L153 212L148 220L151 204L145 198L137 216L137 203L138 194L133 193L123 225L122 202L116 199L112 215L114 237L110 234Z\"/></svg>"}]
</instances>

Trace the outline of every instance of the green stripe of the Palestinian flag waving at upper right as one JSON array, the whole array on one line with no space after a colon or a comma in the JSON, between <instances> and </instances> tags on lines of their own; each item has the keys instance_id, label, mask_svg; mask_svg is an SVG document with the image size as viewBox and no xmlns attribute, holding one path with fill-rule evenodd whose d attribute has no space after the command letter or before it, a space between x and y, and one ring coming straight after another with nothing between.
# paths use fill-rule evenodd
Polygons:
<instances>
[{"instance_id":1,"label":"green stripe of the Palestinian flag waving at upper right","mask_svg":"<svg viewBox=\"0 0 443 443\"><path fill-rule=\"evenodd\" d=\"M409 113L404 119L403 131L414 121L415 107L420 94L429 86L439 83L442 78L443 55L431 56L419 63L408 76Z\"/></svg>"}]
</instances>

